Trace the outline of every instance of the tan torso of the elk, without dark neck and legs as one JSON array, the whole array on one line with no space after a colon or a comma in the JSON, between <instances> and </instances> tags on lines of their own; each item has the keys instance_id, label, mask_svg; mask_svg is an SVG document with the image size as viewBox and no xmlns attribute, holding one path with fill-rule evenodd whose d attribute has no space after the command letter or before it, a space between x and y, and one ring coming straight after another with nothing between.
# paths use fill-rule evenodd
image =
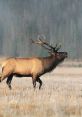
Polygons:
<instances>
[{"instance_id":1,"label":"tan torso of the elk, without dark neck and legs","mask_svg":"<svg viewBox=\"0 0 82 117\"><path fill-rule=\"evenodd\" d=\"M2 62L3 74L33 75L42 71L42 61L38 58L8 58Z\"/></svg>"}]
</instances>

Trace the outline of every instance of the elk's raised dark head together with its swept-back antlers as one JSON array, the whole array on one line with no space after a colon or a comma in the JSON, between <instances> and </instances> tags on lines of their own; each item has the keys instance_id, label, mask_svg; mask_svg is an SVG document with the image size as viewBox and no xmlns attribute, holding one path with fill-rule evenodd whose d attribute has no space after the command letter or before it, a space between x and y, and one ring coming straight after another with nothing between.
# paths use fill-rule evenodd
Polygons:
<instances>
[{"instance_id":1,"label":"elk's raised dark head together with its swept-back antlers","mask_svg":"<svg viewBox=\"0 0 82 117\"><path fill-rule=\"evenodd\" d=\"M61 45L58 46L56 44L55 47L53 47L52 45L47 43L45 40L42 40L40 37L36 41L32 40L32 43L38 44L44 47L45 49L47 49L48 52L51 54L51 56L55 56L57 60L60 60L60 61L64 60L68 56L67 52L58 52L59 49L61 48Z\"/></svg>"}]
</instances>

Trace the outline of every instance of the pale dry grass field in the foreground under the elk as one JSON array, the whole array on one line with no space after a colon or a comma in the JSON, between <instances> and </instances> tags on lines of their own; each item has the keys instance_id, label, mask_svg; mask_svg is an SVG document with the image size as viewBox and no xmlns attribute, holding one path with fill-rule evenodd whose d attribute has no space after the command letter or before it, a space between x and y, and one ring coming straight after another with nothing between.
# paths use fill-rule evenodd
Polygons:
<instances>
[{"instance_id":1,"label":"pale dry grass field in the foreground under the elk","mask_svg":"<svg viewBox=\"0 0 82 117\"><path fill-rule=\"evenodd\" d=\"M41 77L13 78L12 90L0 84L0 117L82 117L82 67L57 67Z\"/></svg>"}]
</instances>

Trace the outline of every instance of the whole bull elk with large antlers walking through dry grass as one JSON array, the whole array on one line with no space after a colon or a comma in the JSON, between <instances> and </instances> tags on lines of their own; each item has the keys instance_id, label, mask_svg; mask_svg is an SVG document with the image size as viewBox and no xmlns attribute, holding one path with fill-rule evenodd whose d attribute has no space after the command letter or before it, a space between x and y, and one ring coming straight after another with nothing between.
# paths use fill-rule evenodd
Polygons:
<instances>
[{"instance_id":1,"label":"whole bull elk with large antlers walking through dry grass","mask_svg":"<svg viewBox=\"0 0 82 117\"><path fill-rule=\"evenodd\" d=\"M47 57L31 57L31 58L7 58L1 62L2 73L0 82L7 78L7 85L11 89L11 81L13 76L32 77L33 87L36 87L36 82L39 83L39 89L42 86L40 76L52 71L66 57L67 52L58 52L60 47L56 44L55 47L42 39L32 40L32 43L39 44L50 53Z\"/></svg>"}]
</instances>

